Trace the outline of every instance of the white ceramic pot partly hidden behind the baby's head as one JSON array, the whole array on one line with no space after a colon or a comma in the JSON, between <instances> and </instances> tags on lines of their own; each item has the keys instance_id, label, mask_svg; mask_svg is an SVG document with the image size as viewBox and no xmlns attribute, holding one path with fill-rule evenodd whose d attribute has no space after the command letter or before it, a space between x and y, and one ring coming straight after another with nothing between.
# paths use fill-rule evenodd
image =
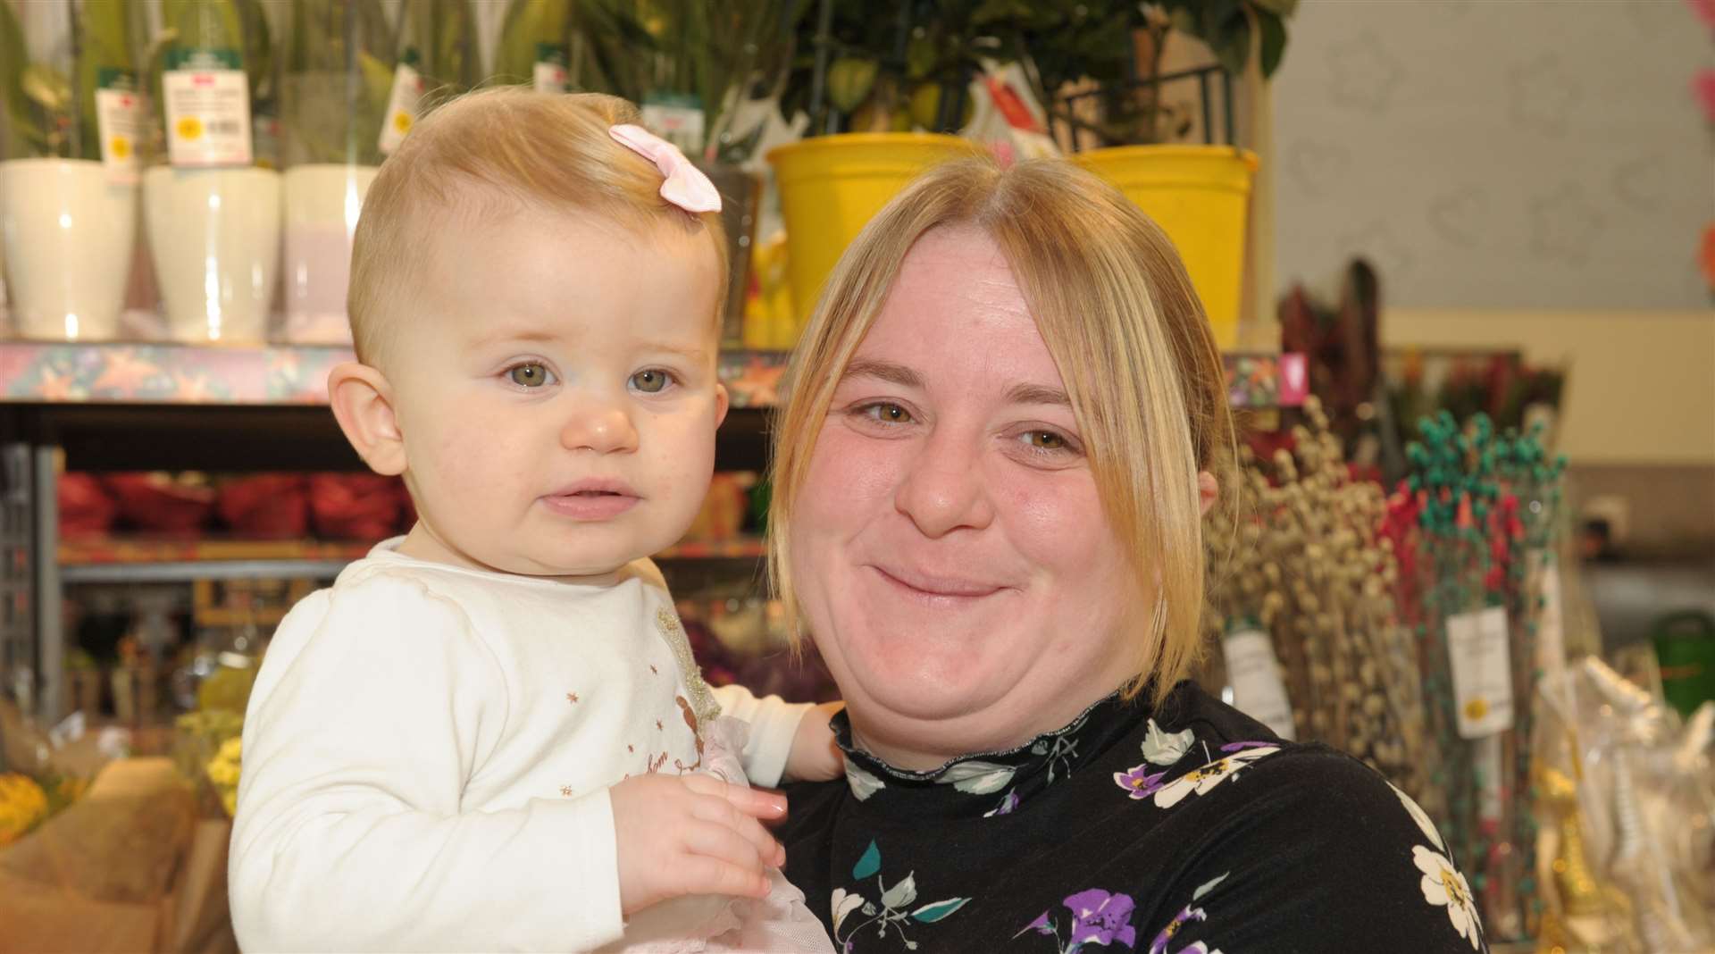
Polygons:
<instances>
[{"instance_id":1,"label":"white ceramic pot partly hidden behind the baby's head","mask_svg":"<svg viewBox=\"0 0 1715 954\"><path fill-rule=\"evenodd\" d=\"M293 345L348 345L345 290L352 233L376 166L300 165L286 170L286 326Z\"/></svg>"}]
</instances>

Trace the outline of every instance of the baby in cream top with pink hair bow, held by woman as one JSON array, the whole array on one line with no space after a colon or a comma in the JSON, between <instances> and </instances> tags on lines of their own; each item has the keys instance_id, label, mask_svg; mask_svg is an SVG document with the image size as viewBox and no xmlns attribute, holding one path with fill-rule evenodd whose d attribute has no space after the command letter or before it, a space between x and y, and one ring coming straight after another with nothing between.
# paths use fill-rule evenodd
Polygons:
<instances>
[{"instance_id":1,"label":"baby in cream top with pink hair bow, held by woman","mask_svg":"<svg viewBox=\"0 0 1715 954\"><path fill-rule=\"evenodd\" d=\"M635 117L477 93L369 190L362 364L328 386L418 522L293 607L257 676L249 951L832 949L758 824L784 800L739 772L835 777L830 709L710 690L647 559L713 468L727 257L720 196Z\"/></svg>"}]
</instances>

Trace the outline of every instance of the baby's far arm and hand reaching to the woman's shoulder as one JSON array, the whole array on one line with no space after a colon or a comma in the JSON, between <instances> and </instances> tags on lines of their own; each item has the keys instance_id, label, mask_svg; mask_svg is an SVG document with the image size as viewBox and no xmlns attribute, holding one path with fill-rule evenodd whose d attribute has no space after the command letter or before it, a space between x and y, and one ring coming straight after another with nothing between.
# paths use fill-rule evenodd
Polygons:
<instances>
[{"instance_id":1,"label":"baby's far arm and hand reaching to the woman's shoulder","mask_svg":"<svg viewBox=\"0 0 1715 954\"><path fill-rule=\"evenodd\" d=\"M828 719L842 703L789 703L777 695L756 698L736 683L713 693L722 716L749 722L743 758L751 784L827 781L844 772L833 733L828 731Z\"/></svg>"}]
</instances>

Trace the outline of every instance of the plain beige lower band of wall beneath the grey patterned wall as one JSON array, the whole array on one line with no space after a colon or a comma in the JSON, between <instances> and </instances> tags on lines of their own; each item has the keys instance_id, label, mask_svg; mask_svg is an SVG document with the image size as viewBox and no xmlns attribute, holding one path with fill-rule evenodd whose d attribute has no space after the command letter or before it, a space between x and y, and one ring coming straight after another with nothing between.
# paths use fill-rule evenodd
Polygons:
<instances>
[{"instance_id":1,"label":"plain beige lower band of wall beneath the grey patterned wall","mask_svg":"<svg viewBox=\"0 0 1715 954\"><path fill-rule=\"evenodd\" d=\"M1715 311L1387 309L1382 343L1566 367L1559 443L1580 465L1715 465Z\"/></svg>"}]
</instances>

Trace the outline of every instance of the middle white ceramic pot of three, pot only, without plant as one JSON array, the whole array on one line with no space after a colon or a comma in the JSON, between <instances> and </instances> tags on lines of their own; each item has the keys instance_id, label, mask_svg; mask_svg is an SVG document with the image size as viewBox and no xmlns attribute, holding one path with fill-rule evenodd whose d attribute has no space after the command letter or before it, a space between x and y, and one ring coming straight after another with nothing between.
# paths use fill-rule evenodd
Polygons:
<instances>
[{"instance_id":1,"label":"middle white ceramic pot of three, pot only, without plant","mask_svg":"<svg viewBox=\"0 0 1715 954\"><path fill-rule=\"evenodd\" d=\"M264 341L280 268L280 173L156 166L142 173L142 204L168 335Z\"/></svg>"}]
</instances>

